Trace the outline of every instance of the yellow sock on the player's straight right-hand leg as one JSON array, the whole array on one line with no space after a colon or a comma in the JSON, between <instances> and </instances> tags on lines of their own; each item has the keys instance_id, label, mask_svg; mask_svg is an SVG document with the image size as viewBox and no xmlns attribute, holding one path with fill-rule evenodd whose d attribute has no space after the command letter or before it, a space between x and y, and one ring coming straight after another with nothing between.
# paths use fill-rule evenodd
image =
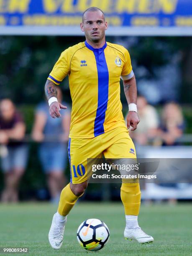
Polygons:
<instances>
[{"instance_id":1,"label":"yellow sock on the player's straight right-hand leg","mask_svg":"<svg viewBox=\"0 0 192 256\"><path fill-rule=\"evenodd\" d=\"M141 205L139 183L122 183L120 198L125 208L125 215L138 215Z\"/></svg>"}]
</instances>

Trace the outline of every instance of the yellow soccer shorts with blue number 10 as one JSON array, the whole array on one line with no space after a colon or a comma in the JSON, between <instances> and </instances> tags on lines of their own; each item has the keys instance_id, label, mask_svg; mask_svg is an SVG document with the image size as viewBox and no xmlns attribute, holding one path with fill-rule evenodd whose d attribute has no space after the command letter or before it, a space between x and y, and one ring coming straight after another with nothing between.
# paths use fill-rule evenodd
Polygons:
<instances>
[{"instance_id":1,"label":"yellow soccer shorts with blue number 10","mask_svg":"<svg viewBox=\"0 0 192 256\"><path fill-rule=\"evenodd\" d=\"M69 164L72 184L87 179L87 159L136 159L136 150L126 127L118 127L95 138L69 138Z\"/></svg>"}]
</instances>

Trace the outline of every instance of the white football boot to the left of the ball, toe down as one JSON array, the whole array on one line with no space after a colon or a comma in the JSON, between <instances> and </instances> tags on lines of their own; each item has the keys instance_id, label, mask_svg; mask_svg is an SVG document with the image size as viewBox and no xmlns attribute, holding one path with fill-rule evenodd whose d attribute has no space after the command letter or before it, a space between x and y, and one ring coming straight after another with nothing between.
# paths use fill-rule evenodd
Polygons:
<instances>
[{"instance_id":1,"label":"white football boot to the left of the ball, toe down","mask_svg":"<svg viewBox=\"0 0 192 256\"><path fill-rule=\"evenodd\" d=\"M56 214L57 213L55 213L53 216L51 228L49 230L49 243L52 248L60 249L61 245L63 243L63 235L64 235L65 224L67 222L67 218L66 218L66 220L64 220L63 223L61 223L59 225L58 223L56 223Z\"/></svg>"}]
</instances>

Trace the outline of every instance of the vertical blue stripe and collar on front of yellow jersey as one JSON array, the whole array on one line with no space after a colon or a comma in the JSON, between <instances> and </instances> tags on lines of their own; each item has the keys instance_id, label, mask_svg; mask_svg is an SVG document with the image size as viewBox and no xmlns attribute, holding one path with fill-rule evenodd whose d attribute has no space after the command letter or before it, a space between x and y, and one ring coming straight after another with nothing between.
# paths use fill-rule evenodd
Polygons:
<instances>
[{"instance_id":1,"label":"vertical blue stripe and collar on front of yellow jersey","mask_svg":"<svg viewBox=\"0 0 192 256\"><path fill-rule=\"evenodd\" d=\"M94 136L98 136L104 133L104 121L105 112L108 107L108 91L109 91L109 72L108 66L105 60L104 49L107 47L107 43L100 48L95 49L85 41L87 48L93 51L97 64L97 74L98 74L98 103L97 112L94 124Z\"/></svg>"}]
</instances>

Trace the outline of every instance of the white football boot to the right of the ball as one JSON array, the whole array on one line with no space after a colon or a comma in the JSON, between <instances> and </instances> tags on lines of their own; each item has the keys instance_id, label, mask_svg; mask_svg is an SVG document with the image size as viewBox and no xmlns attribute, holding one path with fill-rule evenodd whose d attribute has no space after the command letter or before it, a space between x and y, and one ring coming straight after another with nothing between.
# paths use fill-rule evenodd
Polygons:
<instances>
[{"instance_id":1,"label":"white football boot to the right of the ball","mask_svg":"<svg viewBox=\"0 0 192 256\"><path fill-rule=\"evenodd\" d=\"M124 237L126 240L136 240L141 244L153 243L154 241L154 238L144 233L141 228L125 228Z\"/></svg>"}]
</instances>

